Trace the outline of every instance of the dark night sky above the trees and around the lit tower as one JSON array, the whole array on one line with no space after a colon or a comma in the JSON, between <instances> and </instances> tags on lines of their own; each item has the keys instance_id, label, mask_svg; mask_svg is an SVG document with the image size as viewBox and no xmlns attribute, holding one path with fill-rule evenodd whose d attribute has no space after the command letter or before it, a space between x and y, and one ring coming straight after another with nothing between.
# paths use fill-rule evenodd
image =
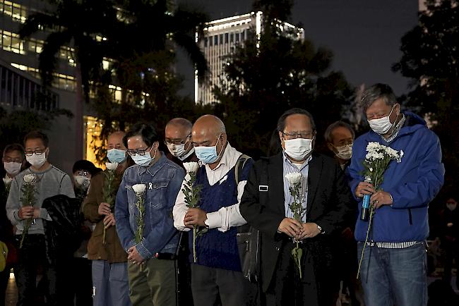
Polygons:
<instances>
[{"instance_id":1,"label":"dark night sky above the trees and around the lit tower","mask_svg":"<svg viewBox=\"0 0 459 306\"><path fill-rule=\"evenodd\" d=\"M181 0L208 12L212 20L248 13L250 0ZM386 82L396 94L407 92L407 79L391 71L401 57L400 39L417 23L417 0L296 0L293 23L302 23L307 38L335 54L333 69L352 85ZM180 54L180 52L179 52ZM182 56L179 56L182 57ZM184 94L193 97L193 69L179 59Z\"/></svg>"}]
</instances>

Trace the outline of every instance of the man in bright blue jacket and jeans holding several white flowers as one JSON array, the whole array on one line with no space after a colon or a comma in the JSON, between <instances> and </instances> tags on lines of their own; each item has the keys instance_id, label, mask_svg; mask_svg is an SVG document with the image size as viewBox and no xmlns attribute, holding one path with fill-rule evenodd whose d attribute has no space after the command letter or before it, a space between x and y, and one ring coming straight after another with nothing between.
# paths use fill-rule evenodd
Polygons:
<instances>
[{"instance_id":1,"label":"man in bright blue jacket and jeans holding several white flowers","mask_svg":"<svg viewBox=\"0 0 459 306\"><path fill-rule=\"evenodd\" d=\"M427 209L443 185L445 172L439 137L422 118L400 111L388 85L369 87L362 95L362 107L371 130L355 140L347 172L359 210L364 195L371 195L376 208L360 270L365 303L427 305ZM389 164L377 191L362 176L369 142L404 153L400 163ZM359 259L368 226L368 221L357 219Z\"/></svg>"}]
</instances>

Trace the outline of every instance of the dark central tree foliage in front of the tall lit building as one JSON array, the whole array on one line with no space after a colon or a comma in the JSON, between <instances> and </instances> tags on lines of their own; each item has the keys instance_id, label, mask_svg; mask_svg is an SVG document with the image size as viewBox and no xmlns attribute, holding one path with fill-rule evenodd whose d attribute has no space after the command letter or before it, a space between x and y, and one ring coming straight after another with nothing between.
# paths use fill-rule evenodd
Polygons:
<instances>
[{"instance_id":1,"label":"dark central tree foliage in front of the tall lit building","mask_svg":"<svg viewBox=\"0 0 459 306\"><path fill-rule=\"evenodd\" d=\"M256 9L263 11L261 36L249 31L246 42L227 57L214 90L220 102L216 113L225 117L230 141L254 156L267 154L277 120L287 109L310 111L320 137L341 118L353 95L342 73L330 69L331 51L298 39L297 30L280 27L278 17L290 18L292 1L280 2L281 11L277 1L256 1Z\"/></svg>"}]
</instances>

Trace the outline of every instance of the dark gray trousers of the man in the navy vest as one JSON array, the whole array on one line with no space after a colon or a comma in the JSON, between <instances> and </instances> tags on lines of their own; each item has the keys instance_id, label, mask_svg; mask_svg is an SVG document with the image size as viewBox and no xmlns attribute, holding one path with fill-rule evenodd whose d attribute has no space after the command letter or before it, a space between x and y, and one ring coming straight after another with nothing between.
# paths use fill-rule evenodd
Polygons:
<instances>
[{"instance_id":1,"label":"dark gray trousers of the man in the navy vest","mask_svg":"<svg viewBox=\"0 0 459 306\"><path fill-rule=\"evenodd\" d=\"M191 264L191 292L198 306L243 306L246 281L242 272Z\"/></svg>"}]
</instances>

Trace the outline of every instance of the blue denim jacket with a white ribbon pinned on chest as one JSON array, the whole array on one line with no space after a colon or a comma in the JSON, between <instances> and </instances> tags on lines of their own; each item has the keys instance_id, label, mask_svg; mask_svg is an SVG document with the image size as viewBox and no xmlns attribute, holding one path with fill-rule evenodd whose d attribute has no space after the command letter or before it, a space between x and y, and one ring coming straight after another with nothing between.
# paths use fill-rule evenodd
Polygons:
<instances>
[{"instance_id":1,"label":"blue denim jacket with a white ribbon pinned on chest","mask_svg":"<svg viewBox=\"0 0 459 306\"><path fill-rule=\"evenodd\" d=\"M148 167L131 166L124 171L119 185L114 216L121 245L127 250L136 245L137 252L150 259L156 252L174 253L179 235L174 228L172 207L184 180L184 170L169 161L161 152L155 164ZM134 233L137 229L138 209L133 185L143 183L145 190L145 214L143 239L136 244Z\"/></svg>"}]
</instances>

